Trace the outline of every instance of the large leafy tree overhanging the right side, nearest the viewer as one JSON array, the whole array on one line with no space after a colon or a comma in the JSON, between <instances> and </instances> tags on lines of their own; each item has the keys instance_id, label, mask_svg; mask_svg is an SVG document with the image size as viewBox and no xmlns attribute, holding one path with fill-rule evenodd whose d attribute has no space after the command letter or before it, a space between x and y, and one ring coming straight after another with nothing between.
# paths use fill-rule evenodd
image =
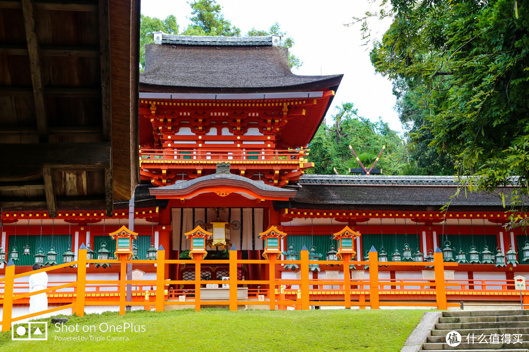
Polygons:
<instances>
[{"instance_id":1,"label":"large leafy tree overhanging the right side, nearest the viewer","mask_svg":"<svg viewBox=\"0 0 529 352\"><path fill-rule=\"evenodd\" d=\"M454 157L471 189L515 184L527 195L527 7L515 1L514 9L512 0L380 2L390 8L377 16L394 20L373 49L375 67L424 101L430 145Z\"/></svg>"}]
</instances>

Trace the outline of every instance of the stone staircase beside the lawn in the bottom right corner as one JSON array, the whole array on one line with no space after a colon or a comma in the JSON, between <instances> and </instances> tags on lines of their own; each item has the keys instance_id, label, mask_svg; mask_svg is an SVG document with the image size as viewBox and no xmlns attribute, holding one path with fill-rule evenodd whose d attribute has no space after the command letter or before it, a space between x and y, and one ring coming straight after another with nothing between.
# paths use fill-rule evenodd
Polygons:
<instances>
[{"instance_id":1,"label":"stone staircase beside the lawn in the bottom right corner","mask_svg":"<svg viewBox=\"0 0 529 352\"><path fill-rule=\"evenodd\" d=\"M461 335L458 346L446 343L450 331ZM421 350L529 352L529 310L444 311Z\"/></svg>"}]
</instances>

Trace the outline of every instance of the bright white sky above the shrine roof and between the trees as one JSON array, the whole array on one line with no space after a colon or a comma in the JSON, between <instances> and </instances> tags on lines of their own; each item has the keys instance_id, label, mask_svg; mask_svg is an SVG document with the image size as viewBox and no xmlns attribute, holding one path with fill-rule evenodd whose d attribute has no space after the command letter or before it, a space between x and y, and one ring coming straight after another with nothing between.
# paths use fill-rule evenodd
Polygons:
<instances>
[{"instance_id":1,"label":"bright white sky above the shrine roof and between the trees","mask_svg":"<svg viewBox=\"0 0 529 352\"><path fill-rule=\"evenodd\" d=\"M352 102L360 116L377 121L378 117L389 123L391 129L402 131L394 110L395 97L391 83L375 74L369 60L369 47L362 46L360 25L345 27L351 17L361 16L376 5L362 0L217 0L226 20L241 28L244 35L252 27L268 29L278 22L281 30L295 41L291 52L303 61L300 75L339 74L344 77L336 92L333 108L326 116L331 122L334 107L342 102ZM180 32L187 27L191 7L183 0L143 0L141 13L150 17L166 18L175 15ZM372 36L381 37L390 22L372 21Z\"/></svg>"}]
</instances>

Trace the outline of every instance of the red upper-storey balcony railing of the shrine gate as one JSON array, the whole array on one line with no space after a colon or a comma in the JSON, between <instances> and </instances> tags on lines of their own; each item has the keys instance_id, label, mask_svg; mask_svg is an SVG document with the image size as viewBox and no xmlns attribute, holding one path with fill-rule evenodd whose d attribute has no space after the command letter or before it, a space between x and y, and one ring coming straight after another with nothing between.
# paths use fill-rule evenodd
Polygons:
<instances>
[{"instance_id":1,"label":"red upper-storey balcony railing of the shrine gate","mask_svg":"<svg viewBox=\"0 0 529 352\"><path fill-rule=\"evenodd\" d=\"M142 161L156 160L284 160L299 162L300 158L308 156L309 149L267 150L267 149L141 149ZM258 153L258 154L257 154Z\"/></svg>"}]
</instances>

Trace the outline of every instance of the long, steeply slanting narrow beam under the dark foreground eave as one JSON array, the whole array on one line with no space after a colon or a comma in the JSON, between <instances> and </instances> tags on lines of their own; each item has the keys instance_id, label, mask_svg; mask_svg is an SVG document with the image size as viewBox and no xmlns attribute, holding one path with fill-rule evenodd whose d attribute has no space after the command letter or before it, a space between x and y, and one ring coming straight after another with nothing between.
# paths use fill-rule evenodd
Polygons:
<instances>
[{"instance_id":1,"label":"long, steeply slanting narrow beam under the dark foreground eave","mask_svg":"<svg viewBox=\"0 0 529 352\"><path fill-rule=\"evenodd\" d=\"M39 42L35 32L35 13L33 0L22 0L22 12L24 13L24 26L26 40L28 41L28 53L30 57L31 81L33 83L33 100L35 102L35 118L37 118L37 130L39 140L48 141L48 120L44 106L44 94L42 88L42 72L40 70Z\"/></svg>"}]
</instances>

